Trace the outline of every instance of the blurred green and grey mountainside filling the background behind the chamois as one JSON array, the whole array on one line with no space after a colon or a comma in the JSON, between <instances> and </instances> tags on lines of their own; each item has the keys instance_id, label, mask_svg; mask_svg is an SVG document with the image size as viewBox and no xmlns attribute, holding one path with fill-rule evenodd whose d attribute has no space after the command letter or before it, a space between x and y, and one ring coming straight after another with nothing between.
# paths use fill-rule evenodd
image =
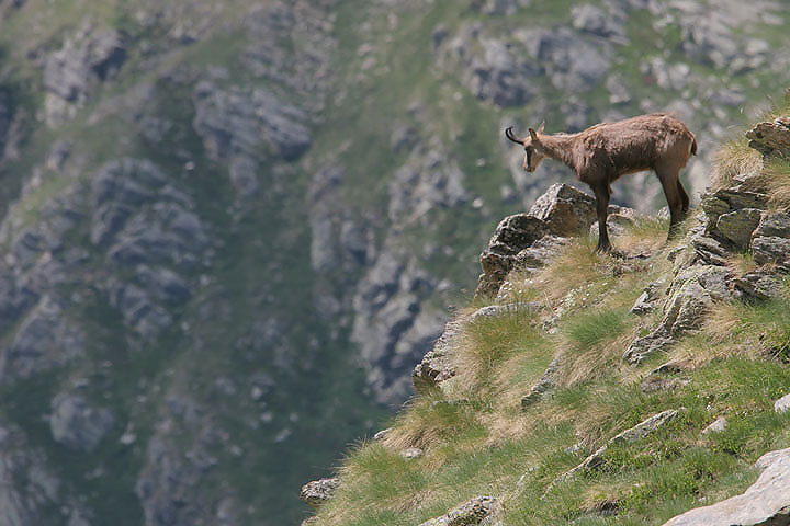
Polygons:
<instances>
[{"instance_id":1,"label":"blurred green and grey mountainside filling the background behind the chamois","mask_svg":"<svg viewBox=\"0 0 790 526\"><path fill-rule=\"evenodd\" d=\"M573 181L503 128L674 112L696 194L790 81L782 5L0 0L0 524L295 523Z\"/></svg>"}]
</instances>

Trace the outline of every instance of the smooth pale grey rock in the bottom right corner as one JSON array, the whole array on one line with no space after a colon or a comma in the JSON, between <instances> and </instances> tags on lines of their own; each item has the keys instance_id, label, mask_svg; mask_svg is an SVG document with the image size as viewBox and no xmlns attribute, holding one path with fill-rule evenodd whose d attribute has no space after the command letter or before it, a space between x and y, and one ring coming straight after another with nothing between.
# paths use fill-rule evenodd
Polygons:
<instances>
[{"instance_id":1,"label":"smooth pale grey rock in the bottom right corner","mask_svg":"<svg viewBox=\"0 0 790 526\"><path fill-rule=\"evenodd\" d=\"M760 470L760 476L744 493L711 506L688 511L667 521L664 526L770 526L790 523L790 448L763 455L755 467Z\"/></svg>"}]
</instances>

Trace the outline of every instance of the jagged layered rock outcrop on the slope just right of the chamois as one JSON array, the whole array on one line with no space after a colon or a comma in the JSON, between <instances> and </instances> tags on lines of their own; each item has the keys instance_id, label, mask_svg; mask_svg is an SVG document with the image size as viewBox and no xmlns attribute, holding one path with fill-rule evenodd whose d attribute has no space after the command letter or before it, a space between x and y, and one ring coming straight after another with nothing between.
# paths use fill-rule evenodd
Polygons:
<instances>
[{"instance_id":1,"label":"jagged layered rock outcrop on the slope just right of the chamois","mask_svg":"<svg viewBox=\"0 0 790 526\"><path fill-rule=\"evenodd\" d=\"M737 175L729 187L702 196L703 215L689 230L690 250L675 260L662 321L648 335L634 340L623 359L637 364L699 329L704 312L716 301L765 300L780 290L782 275L790 270L790 216L771 209L769 201L765 181L754 173ZM759 266L737 275L729 261L743 251ZM652 304L658 299L655 291L653 297ZM646 311L640 301L634 309Z\"/></svg>"}]
</instances>

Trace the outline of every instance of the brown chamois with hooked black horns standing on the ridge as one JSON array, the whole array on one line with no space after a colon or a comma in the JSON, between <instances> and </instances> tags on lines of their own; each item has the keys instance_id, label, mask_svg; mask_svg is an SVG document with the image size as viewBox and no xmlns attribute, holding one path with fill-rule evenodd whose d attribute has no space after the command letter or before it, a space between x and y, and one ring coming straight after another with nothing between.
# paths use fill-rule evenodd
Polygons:
<instances>
[{"instance_id":1,"label":"brown chamois with hooked black horns standing on the ridge","mask_svg":"<svg viewBox=\"0 0 790 526\"><path fill-rule=\"evenodd\" d=\"M669 205L669 238L688 211L689 198L680 183L680 169L697 155L697 140L688 127L672 115L653 113L602 123L578 134L544 135L543 124L529 137L516 137L512 126L505 136L524 147L523 168L534 172L543 158L565 163L576 178L587 183L596 196L598 247L596 252L611 251L607 232L607 210L611 183L621 175L654 170Z\"/></svg>"}]
</instances>

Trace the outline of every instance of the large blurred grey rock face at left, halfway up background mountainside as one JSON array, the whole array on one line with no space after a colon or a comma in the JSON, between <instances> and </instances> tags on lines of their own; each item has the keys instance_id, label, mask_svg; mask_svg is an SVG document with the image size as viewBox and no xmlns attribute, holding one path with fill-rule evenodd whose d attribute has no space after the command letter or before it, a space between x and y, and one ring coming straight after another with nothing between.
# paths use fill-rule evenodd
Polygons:
<instances>
[{"instance_id":1,"label":"large blurred grey rock face at left, halfway up background mountainside","mask_svg":"<svg viewBox=\"0 0 790 526\"><path fill-rule=\"evenodd\" d=\"M91 241L116 272L106 291L125 323L154 338L172 323L169 308L182 305L191 287L181 273L206 262L208 235L185 192L148 161L123 159L93 178Z\"/></svg>"}]
</instances>

